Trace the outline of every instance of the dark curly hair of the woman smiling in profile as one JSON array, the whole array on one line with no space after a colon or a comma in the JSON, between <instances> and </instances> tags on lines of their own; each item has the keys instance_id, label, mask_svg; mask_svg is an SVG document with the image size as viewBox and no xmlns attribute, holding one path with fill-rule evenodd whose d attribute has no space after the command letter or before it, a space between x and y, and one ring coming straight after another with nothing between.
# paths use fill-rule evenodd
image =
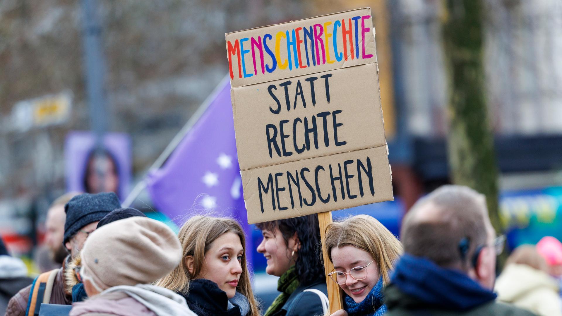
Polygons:
<instances>
[{"instance_id":1,"label":"dark curly hair of the woman smiling in profile","mask_svg":"<svg viewBox=\"0 0 562 316\"><path fill-rule=\"evenodd\" d=\"M279 228L285 245L288 245L289 238L297 233L298 240L301 242L301 249L298 251L297 261L294 264L298 281L305 286L326 281L320 226L316 214L258 223L256 227L261 231L271 232L275 230L275 227Z\"/></svg>"}]
</instances>

